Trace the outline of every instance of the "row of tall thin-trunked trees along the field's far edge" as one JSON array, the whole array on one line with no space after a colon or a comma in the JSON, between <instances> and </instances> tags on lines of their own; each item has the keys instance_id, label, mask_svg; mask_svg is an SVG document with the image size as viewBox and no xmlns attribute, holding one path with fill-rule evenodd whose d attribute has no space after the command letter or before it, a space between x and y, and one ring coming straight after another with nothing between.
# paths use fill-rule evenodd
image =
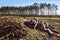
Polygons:
<instances>
[{"instance_id":1,"label":"row of tall thin-trunked trees along the field's far edge","mask_svg":"<svg viewBox=\"0 0 60 40\"><path fill-rule=\"evenodd\" d=\"M13 15L57 15L58 6L51 3L34 3L30 6L3 6L0 8L0 14Z\"/></svg>"}]
</instances>

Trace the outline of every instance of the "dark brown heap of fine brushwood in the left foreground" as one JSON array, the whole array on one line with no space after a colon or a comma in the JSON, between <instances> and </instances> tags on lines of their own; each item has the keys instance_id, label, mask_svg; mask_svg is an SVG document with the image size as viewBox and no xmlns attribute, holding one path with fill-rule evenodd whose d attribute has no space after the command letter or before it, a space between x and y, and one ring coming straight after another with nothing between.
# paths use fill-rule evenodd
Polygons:
<instances>
[{"instance_id":1,"label":"dark brown heap of fine brushwood in the left foreground","mask_svg":"<svg viewBox=\"0 0 60 40\"><path fill-rule=\"evenodd\" d=\"M20 40L28 33L25 27L12 18L0 18L0 40Z\"/></svg>"}]
</instances>

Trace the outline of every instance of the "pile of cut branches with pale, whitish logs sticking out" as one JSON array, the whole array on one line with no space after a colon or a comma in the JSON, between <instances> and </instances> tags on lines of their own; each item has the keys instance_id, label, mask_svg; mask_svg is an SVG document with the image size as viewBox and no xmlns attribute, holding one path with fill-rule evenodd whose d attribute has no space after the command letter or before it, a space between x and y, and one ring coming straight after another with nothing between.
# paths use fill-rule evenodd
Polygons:
<instances>
[{"instance_id":1,"label":"pile of cut branches with pale, whitish logs sticking out","mask_svg":"<svg viewBox=\"0 0 60 40\"><path fill-rule=\"evenodd\" d=\"M55 27L53 27L52 25L50 25L46 22L39 20L38 18L24 20L24 24L29 28L38 29L38 30L47 32L49 34L49 36L56 36L56 37L60 38L60 33L58 32L58 30L56 30Z\"/></svg>"}]
</instances>

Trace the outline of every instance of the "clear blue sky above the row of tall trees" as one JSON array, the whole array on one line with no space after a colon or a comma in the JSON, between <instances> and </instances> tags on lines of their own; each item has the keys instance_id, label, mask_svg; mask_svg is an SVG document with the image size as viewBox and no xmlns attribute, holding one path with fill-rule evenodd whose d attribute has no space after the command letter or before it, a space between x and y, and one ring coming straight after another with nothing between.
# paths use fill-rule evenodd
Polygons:
<instances>
[{"instance_id":1,"label":"clear blue sky above the row of tall trees","mask_svg":"<svg viewBox=\"0 0 60 40\"><path fill-rule=\"evenodd\" d=\"M60 14L60 0L0 0L0 7L2 6L27 6L33 3L54 3L58 5L58 14Z\"/></svg>"}]
</instances>

